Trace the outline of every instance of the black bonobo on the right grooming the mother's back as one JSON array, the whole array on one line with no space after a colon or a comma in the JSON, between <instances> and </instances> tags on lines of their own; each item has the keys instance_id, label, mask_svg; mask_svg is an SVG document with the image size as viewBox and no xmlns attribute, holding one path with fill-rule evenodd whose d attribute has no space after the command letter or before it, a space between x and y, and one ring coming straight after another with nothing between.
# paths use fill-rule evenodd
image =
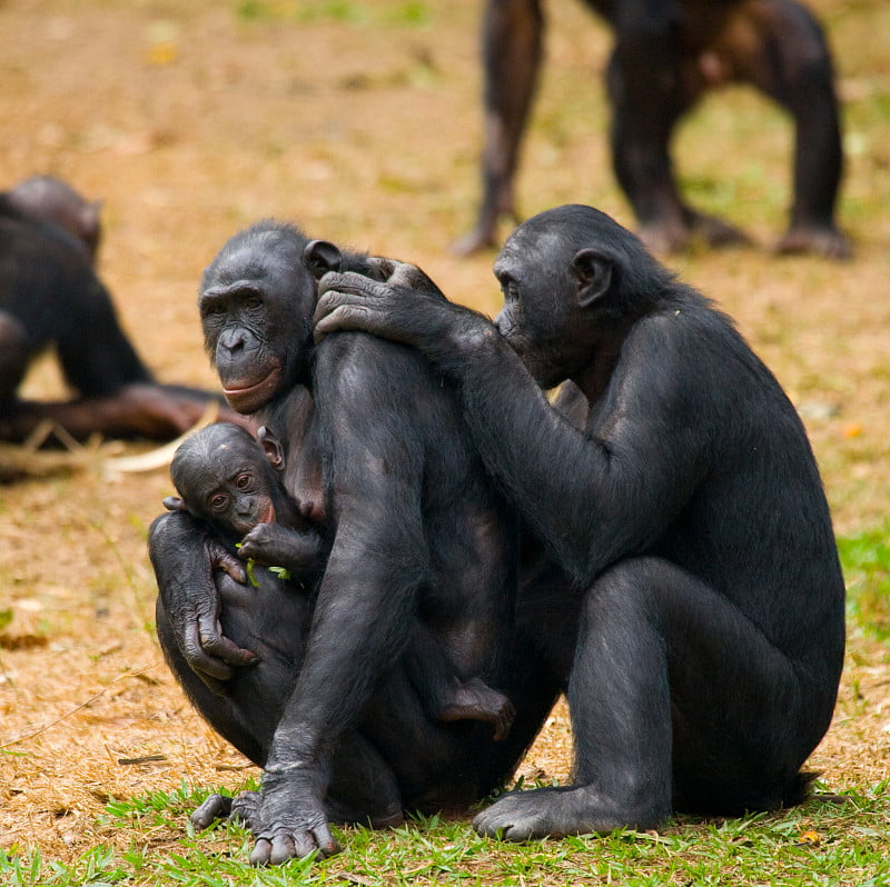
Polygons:
<instances>
[{"instance_id":1,"label":"black bonobo on the right grooming the mother's back","mask_svg":"<svg viewBox=\"0 0 890 887\"><path fill-rule=\"evenodd\" d=\"M397 263L387 283L327 275L316 316L317 336L367 330L442 369L550 561L523 577L517 621L538 620L565 681L574 784L508 795L477 828L521 839L800 801L844 588L792 405L725 316L590 207L530 219L494 271L494 323L405 286L416 271ZM541 391L564 380L587 401L581 430Z\"/></svg>"}]
</instances>

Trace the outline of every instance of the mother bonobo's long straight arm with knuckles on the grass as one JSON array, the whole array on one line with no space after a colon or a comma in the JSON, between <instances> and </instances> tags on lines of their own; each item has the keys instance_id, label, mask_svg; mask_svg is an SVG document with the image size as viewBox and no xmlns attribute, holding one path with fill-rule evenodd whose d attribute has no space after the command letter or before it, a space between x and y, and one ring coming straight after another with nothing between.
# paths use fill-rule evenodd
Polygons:
<instances>
[{"instance_id":1,"label":"mother bonobo's long straight arm with knuckles on the grass","mask_svg":"<svg viewBox=\"0 0 890 887\"><path fill-rule=\"evenodd\" d=\"M415 362L405 367L399 351L364 336L332 337L318 349L316 415L336 535L266 764L254 863L337 850L323 804L330 753L400 656L427 576L423 441L403 406L416 358L406 352Z\"/></svg>"}]
</instances>

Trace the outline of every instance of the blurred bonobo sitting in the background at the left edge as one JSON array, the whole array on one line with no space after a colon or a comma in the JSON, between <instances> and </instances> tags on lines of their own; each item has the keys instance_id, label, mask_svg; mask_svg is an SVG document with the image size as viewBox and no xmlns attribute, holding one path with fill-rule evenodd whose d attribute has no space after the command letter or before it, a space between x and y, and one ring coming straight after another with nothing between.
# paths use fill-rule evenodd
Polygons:
<instances>
[{"instance_id":1,"label":"blurred bonobo sitting in the background at the left edge","mask_svg":"<svg viewBox=\"0 0 890 887\"><path fill-rule=\"evenodd\" d=\"M24 440L44 420L77 438L165 439L207 409L207 392L158 385L127 339L92 268L99 237L96 205L58 179L0 195L0 440ZM50 346L79 398L20 400L28 367Z\"/></svg>"}]
</instances>

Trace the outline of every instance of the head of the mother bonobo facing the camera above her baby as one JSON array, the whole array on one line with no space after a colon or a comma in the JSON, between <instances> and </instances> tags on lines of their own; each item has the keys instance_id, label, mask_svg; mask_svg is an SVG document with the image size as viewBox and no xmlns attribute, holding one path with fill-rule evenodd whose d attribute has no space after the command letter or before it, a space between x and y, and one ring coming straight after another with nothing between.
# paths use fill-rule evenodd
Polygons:
<instances>
[{"instance_id":1,"label":"head of the mother bonobo facing the camera above her baby","mask_svg":"<svg viewBox=\"0 0 890 887\"><path fill-rule=\"evenodd\" d=\"M275 221L257 222L222 247L204 272L198 305L205 346L233 409L256 412L308 382L317 280L342 265L360 270L362 261Z\"/></svg>"}]
</instances>

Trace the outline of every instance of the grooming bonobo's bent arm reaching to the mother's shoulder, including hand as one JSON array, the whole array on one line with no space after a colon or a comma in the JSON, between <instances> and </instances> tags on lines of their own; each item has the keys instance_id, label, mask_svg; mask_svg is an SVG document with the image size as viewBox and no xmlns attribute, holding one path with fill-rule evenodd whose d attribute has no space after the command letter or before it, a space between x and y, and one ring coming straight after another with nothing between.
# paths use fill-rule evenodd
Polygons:
<instances>
[{"instance_id":1,"label":"grooming bonobo's bent arm reaching to the mother's shoulder, including hand","mask_svg":"<svg viewBox=\"0 0 890 887\"><path fill-rule=\"evenodd\" d=\"M683 387L673 383L694 372L680 363L694 363L695 338L683 339L695 312L635 325L601 397L596 428L584 431L553 408L490 320L403 286L403 268L388 283L326 275L316 336L363 329L396 339L457 380L486 467L580 581L657 538L706 470L701 405L683 402ZM650 366L660 368L654 378Z\"/></svg>"}]
</instances>

